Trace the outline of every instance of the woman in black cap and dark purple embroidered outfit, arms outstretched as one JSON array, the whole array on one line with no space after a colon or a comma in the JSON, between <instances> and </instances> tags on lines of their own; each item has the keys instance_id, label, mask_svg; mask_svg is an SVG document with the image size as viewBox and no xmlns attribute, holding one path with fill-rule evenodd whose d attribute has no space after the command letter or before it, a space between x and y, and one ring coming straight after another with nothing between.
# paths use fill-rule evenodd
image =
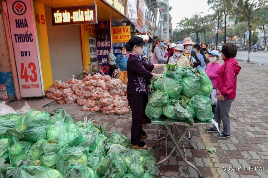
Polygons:
<instances>
[{"instance_id":1,"label":"woman in black cap and dark purple embroidered outfit, arms outstretched","mask_svg":"<svg viewBox=\"0 0 268 178\"><path fill-rule=\"evenodd\" d=\"M152 73L154 69L161 69L162 64L147 64L142 61L141 55L145 43L141 37L134 36L125 45L127 51L130 51L127 60L127 99L132 111L131 125L131 144L132 148L147 149L141 138L147 138L148 134L142 130L143 119L151 123L151 120L145 114L145 108L148 103L148 90L146 79L154 79L159 74Z\"/></svg>"}]
</instances>

